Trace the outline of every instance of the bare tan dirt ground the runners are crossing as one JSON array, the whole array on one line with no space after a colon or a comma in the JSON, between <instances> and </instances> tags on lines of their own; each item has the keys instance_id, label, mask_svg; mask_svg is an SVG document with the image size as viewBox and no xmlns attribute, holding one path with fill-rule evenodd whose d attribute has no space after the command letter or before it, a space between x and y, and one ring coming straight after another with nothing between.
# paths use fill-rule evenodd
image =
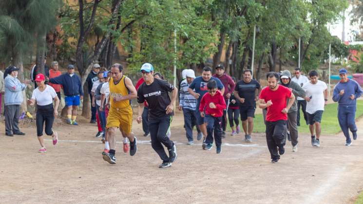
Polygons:
<instances>
[{"instance_id":1,"label":"bare tan dirt ground the runners are crossing","mask_svg":"<svg viewBox=\"0 0 363 204\"><path fill-rule=\"evenodd\" d=\"M312 148L310 136L302 134L299 151L291 152L287 144L277 164L270 163L262 133L250 144L242 142L242 134L228 135L217 155L196 139L187 146L182 124L176 115L177 160L159 169L150 137L140 136L136 122L138 152L131 157L117 145L116 165L103 161L95 125L57 125L60 142L46 141L47 152L41 154L35 128L8 137L1 123L0 203L346 204L363 188L363 120L351 147L344 146L342 133L322 135L321 148Z\"/></svg>"}]
</instances>

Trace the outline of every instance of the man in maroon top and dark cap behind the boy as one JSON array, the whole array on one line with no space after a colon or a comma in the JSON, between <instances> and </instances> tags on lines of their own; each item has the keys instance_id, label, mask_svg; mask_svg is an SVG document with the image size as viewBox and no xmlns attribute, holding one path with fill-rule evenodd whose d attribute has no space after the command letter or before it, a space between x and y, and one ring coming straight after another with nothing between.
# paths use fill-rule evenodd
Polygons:
<instances>
[{"instance_id":1,"label":"man in maroon top and dark cap behind the boy","mask_svg":"<svg viewBox=\"0 0 363 204\"><path fill-rule=\"evenodd\" d=\"M230 95L233 93L233 90L234 90L234 87L236 86L236 84L234 83L234 81L228 74L224 73L224 66L221 64L215 68L215 74L213 76L218 78L219 80L221 80L221 82L225 88L223 97L224 97L226 104L228 104ZM227 127L227 110L223 110L222 138L226 137L226 127Z\"/></svg>"}]
</instances>

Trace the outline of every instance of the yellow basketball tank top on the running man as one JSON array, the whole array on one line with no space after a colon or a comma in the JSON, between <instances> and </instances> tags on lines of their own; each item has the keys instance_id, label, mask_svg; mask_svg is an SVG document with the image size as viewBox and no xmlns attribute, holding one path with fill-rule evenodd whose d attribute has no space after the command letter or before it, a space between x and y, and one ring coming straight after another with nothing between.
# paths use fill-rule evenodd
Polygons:
<instances>
[{"instance_id":1,"label":"yellow basketball tank top on the running man","mask_svg":"<svg viewBox=\"0 0 363 204\"><path fill-rule=\"evenodd\" d=\"M111 108L115 108L115 109L125 109L125 108L127 108L127 110L128 110L127 112L129 112L129 110L131 110L131 113L132 113L130 100L114 101L114 98L116 96L123 96L123 95L128 95L129 94L129 90L127 89L127 87L125 85L125 77L126 76L123 75L121 80L118 82L118 84L114 84L114 79L113 78L110 79L110 82L109 82L109 86L110 86L110 105L111 105Z\"/></svg>"}]
</instances>

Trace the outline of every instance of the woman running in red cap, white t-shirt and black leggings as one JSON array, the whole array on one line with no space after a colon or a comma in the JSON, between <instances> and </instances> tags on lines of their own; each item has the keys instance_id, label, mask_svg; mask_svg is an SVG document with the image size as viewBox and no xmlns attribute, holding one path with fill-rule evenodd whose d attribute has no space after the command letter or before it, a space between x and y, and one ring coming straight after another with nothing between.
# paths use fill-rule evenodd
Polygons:
<instances>
[{"instance_id":1,"label":"woman running in red cap, white t-shirt and black leggings","mask_svg":"<svg viewBox=\"0 0 363 204\"><path fill-rule=\"evenodd\" d=\"M45 84L44 74L37 74L35 77L37 87L32 94L32 98L28 99L28 104L33 106L37 102L37 135L41 148L40 153L47 151L44 146L43 125L45 123L45 133L52 135L53 145L58 143L58 134L52 130L54 118L58 115L59 99L53 87ZM55 102L53 108L53 100Z\"/></svg>"}]
</instances>

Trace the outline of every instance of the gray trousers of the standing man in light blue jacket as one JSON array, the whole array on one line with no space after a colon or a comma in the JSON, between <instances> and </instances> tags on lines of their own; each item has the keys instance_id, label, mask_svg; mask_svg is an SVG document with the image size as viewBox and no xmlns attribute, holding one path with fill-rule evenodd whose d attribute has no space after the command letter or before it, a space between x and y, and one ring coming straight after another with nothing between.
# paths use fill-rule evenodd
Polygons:
<instances>
[{"instance_id":1,"label":"gray trousers of the standing man in light blue jacket","mask_svg":"<svg viewBox=\"0 0 363 204\"><path fill-rule=\"evenodd\" d=\"M19 124L20 105L5 106L5 133L13 134L20 132Z\"/></svg>"}]
</instances>

